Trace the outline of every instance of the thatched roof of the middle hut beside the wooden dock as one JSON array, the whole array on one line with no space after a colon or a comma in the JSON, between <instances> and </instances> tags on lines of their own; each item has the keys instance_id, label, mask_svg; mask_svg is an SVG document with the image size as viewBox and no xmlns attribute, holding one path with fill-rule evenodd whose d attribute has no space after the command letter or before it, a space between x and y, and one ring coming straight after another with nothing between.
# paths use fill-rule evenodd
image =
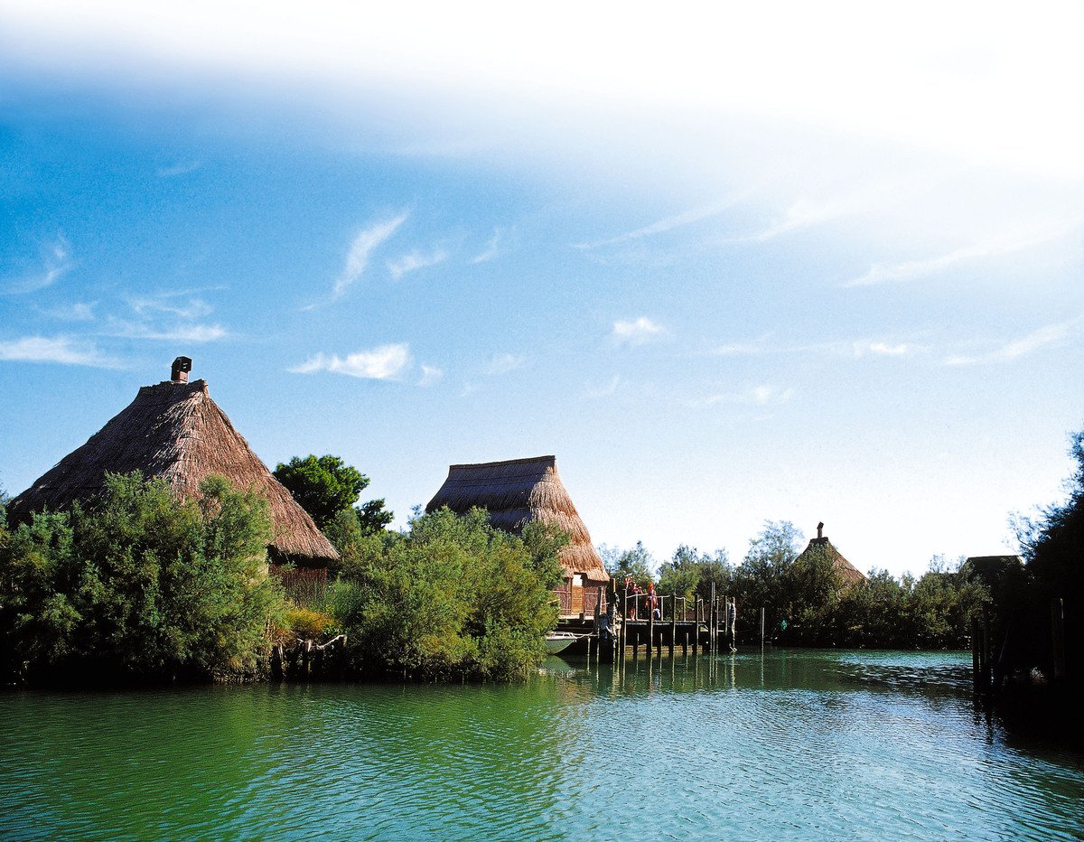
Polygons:
<instances>
[{"instance_id":1,"label":"thatched roof of the middle hut beside the wooden dock","mask_svg":"<svg viewBox=\"0 0 1084 842\"><path fill-rule=\"evenodd\" d=\"M588 528L557 476L555 456L452 465L448 479L425 510L434 511L441 506L457 515L480 506L489 513L492 526L514 534L519 534L532 520L556 523L572 539L560 554L565 569L585 573L592 582L609 580Z\"/></svg>"}]
</instances>

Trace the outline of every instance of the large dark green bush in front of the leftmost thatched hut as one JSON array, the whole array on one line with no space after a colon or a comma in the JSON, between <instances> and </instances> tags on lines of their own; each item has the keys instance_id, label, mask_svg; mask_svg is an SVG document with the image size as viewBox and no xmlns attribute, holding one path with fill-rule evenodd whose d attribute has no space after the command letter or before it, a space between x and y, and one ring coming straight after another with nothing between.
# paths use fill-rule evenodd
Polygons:
<instances>
[{"instance_id":1,"label":"large dark green bush in front of the leftmost thatched hut","mask_svg":"<svg viewBox=\"0 0 1084 842\"><path fill-rule=\"evenodd\" d=\"M70 513L0 523L0 664L96 683L256 674L283 599L267 577L267 501L222 477L178 504L111 475Z\"/></svg>"}]
</instances>

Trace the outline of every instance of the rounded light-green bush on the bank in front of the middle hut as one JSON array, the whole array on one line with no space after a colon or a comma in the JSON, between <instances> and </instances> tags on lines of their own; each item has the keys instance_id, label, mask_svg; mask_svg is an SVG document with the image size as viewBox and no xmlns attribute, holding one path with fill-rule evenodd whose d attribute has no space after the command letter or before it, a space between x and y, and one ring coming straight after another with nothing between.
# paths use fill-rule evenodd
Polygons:
<instances>
[{"instance_id":1,"label":"rounded light-green bush on the bank in front of the middle hut","mask_svg":"<svg viewBox=\"0 0 1084 842\"><path fill-rule=\"evenodd\" d=\"M552 588L567 536L541 523L521 539L482 509L415 514L410 531L356 534L328 612L367 672L509 678L538 663L557 620Z\"/></svg>"}]
</instances>

